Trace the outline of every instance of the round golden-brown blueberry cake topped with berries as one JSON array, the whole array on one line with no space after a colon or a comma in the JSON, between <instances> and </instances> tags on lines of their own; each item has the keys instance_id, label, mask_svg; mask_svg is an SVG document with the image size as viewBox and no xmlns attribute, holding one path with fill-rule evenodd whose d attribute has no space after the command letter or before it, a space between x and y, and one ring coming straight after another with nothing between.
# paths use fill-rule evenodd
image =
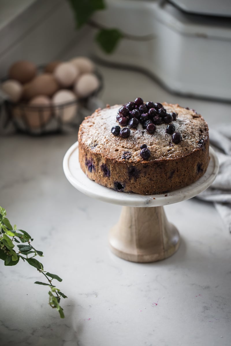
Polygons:
<instances>
[{"instance_id":1,"label":"round golden-brown blueberry cake topped with berries","mask_svg":"<svg viewBox=\"0 0 231 346\"><path fill-rule=\"evenodd\" d=\"M138 194L161 194L199 179L209 162L208 126L178 104L97 109L79 129L79 162L89 179Z\"/></svg>"}]
</instances>

